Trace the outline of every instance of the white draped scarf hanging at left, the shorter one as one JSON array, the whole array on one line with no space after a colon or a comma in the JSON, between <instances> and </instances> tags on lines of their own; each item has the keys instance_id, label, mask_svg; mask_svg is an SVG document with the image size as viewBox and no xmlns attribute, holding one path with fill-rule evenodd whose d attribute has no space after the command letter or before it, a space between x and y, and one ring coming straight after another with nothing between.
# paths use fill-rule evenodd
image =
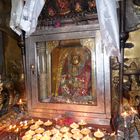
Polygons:
<instances>
[{"instance_id":1,"label":"white draped scarf hanging at left, the shorter one","mask_svg":"<svg viewBox=\"0 0 140 140\"><path fill-rule=\"evenodd\" d=\"M26 0L23 3L24 0L12 0L10 27L19 35L24 30L29 36L36 30L45 0Z\"/></svg>"}]
</instances>

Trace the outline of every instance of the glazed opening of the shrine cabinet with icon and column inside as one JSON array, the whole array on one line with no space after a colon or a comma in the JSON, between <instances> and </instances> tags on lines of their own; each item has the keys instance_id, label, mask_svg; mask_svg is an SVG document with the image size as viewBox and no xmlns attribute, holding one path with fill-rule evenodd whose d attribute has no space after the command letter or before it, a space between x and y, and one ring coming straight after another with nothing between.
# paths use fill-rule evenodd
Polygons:
<instances>
[{"instance_id":1,"label":"glazed opening of the shrine cabinet with icon and column inside","mask_svg":"<svg viewBox=\"0 0 140 140\"><path fill-rule=\"evenodd\" d=\"M95 39L37 43L41 102L96 104Z\"/></svg>"}]
</instances>

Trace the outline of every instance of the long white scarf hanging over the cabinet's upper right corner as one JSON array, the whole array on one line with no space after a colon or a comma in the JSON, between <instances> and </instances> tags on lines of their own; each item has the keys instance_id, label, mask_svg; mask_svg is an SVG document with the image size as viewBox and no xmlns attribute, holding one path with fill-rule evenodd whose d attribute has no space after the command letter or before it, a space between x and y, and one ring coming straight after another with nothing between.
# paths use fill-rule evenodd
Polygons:
<instances>
[{"instance_id":1,"label":"long white scarf hanging over the cabinet's upper right corner","mask_svg":"<svg viewBox=\"0 0 140 140\"><path fill-rule=\"evenodd\" d=\"M107 54L120 56L116 0L96 0L102 44Z\"/></svg>"}]
</instances>

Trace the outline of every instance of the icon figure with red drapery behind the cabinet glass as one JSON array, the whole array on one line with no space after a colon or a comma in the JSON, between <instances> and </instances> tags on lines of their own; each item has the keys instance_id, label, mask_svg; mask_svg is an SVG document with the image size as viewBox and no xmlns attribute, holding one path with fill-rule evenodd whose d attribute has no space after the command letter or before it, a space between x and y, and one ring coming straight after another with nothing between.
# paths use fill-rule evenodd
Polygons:
<instances>
[{"instance_id":1,"label":"icon figure with red drapery behind the cabinet glass","mask_svg":"<svg viewBox=\"0 0 140 140\"><path fill-rule=\"evenodd\" d=\"M91 93L91 55L87 48L71 51L65 59L58 94L87 96Z\"/></svg>"}]
</instances>

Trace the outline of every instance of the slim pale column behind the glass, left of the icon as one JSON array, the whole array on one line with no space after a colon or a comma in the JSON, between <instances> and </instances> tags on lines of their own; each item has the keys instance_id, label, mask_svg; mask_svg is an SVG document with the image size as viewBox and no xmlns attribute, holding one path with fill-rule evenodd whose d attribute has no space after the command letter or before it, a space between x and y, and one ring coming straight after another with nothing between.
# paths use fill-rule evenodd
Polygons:
<instances>
[{"instance_id":1,"label":"slim pale column behind the glass, left of the icon","mask_svg":"<svg viewBox=\"0 0 140 140\"><path fill-rule=\"evenodd\" d=\"M47 55L46 43L38 43L38 74L39 74L39 99L47 98Z\"/></svg>"}]
</instances>

